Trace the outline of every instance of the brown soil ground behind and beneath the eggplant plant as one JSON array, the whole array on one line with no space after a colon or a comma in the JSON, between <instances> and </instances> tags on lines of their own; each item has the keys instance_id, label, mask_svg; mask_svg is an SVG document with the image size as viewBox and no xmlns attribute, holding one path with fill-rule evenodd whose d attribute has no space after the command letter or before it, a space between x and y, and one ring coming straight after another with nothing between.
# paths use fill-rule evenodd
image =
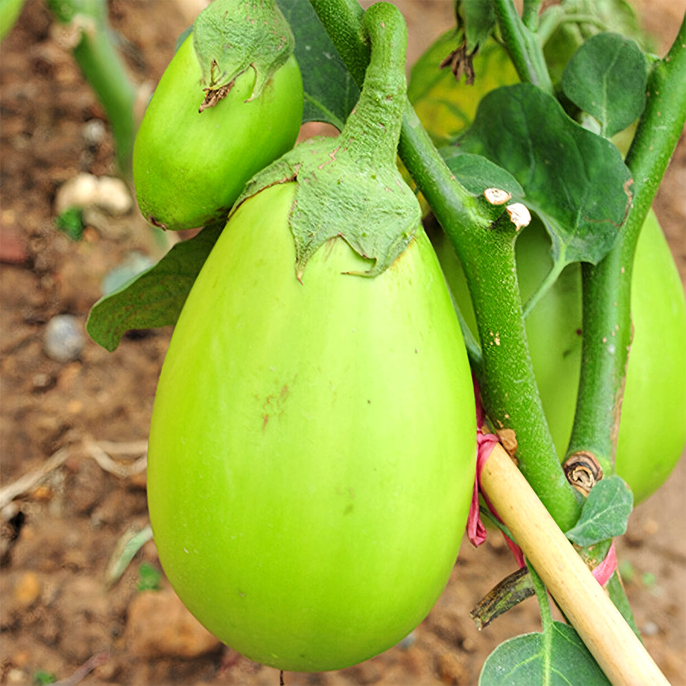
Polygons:
<instances>
[{"instance_id":1,"label":"brown soil ground behind and beneath the eggplant plant","mask_svg":"<svg viewBox=\"0 0 686 686\"><path fill-rule=\"evenodd\" d=\"M110 20L141 92L165 68L198 11L191 0L110 0ZM410 59L447 27L450 2L399 1L410 24ZM685 0L641 3L646 25L670 44ZM85 322L102 280L132 255L159 246L136 210L86 226L73 242L55 228L58 189L79 172L115 174L102 107L51 22L27 1L0 48L1 399L5 489L43 470L0 503L0 683L270 684L279 672L206 635L180 607L148 541L119 578L110 560L148 523L141 456L171 331L137 331L114 353L87 340L78 359L44 352L47 322ZM686 272L686 146L665 177L657 213ZM95 228L97 224L97 228ZM643 640L667 678L686 683L686 460L635 510L618 541L626 590ZM0 491L7 496L8 490ZM147 565L147 567L145 566ZM515 565L496 534L464 542L439 602L399 646L340 672L285 674L285 683L474 684L502 640L539 629L534 599L478 632L469 611ZM147 571L147 576L145 572ZM45 683L45 681L43 682Z\"/></svg>"}]
</instances>

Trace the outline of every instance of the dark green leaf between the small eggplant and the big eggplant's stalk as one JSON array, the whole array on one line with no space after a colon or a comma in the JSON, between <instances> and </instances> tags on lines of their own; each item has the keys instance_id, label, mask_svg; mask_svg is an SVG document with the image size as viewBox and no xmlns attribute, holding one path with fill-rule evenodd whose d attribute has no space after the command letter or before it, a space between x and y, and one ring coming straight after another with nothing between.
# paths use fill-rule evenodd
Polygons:
<instances>
[{"instance_id":1,"label":"dark green leaf between the small eggplant and the big eggplant's stalk","mask_svg":"<svg viewBox=\"0 0 686 686\"><path fill-rule=\"evenodd\" d=\"M294 55L303 74L303 123L325 121L340 131L357 104L359 88L309 2L277 0L296 39Z\"/></svg>"}]
</instances>

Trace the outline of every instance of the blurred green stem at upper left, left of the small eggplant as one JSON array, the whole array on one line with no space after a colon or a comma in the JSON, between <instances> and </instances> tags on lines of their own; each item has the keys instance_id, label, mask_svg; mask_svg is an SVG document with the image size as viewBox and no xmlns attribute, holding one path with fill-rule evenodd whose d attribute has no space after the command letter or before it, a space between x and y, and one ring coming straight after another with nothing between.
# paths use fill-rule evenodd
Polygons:
<instances>
[{"instance_id":1,"label":"blurred green stem at upper left, left of the small eggplant","mask_svg":"<svg viewBox=\"0 0 686 686\"><path fill-rule=\"evenodd\" d=\"M78 32L72 49L107 114L121 173L131 176L136 90L109 36L106 0L49 0L56 18Z\"/></svg>"}]
</instances>

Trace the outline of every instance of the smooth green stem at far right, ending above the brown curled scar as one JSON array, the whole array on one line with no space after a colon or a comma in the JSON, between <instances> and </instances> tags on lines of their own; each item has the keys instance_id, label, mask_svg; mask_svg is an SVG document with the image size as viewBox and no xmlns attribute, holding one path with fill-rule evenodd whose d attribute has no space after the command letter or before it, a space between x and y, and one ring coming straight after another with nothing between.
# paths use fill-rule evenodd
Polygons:
<instances>
[{"instance_id":1,"label":"smooth green stem at far right, ending above the brown curled scar","mask_svg":"<svg viewBox=\"0 0 686 686\"><path fill-rule=\"evenodd\" d=\"M591 451L612 473L624 377L631 342L630 297L634 252L686 120L686 19L670 52L654 64L648 100L626 157L633 185L624 229L608 255L582 265L583 340L576 416L567 454ZM665 331L665 335L670 335ZM611 429L611 430L608 430ZM668 429L667 429L668 430Z\"/></svg>"}]
</instances>

